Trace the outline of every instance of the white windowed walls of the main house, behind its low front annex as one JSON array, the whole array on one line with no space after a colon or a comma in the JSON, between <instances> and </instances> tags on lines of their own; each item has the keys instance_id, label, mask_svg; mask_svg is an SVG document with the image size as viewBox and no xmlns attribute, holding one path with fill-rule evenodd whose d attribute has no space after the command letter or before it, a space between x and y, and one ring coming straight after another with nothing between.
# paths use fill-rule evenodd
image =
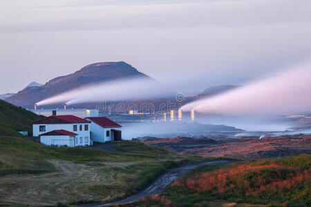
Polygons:
<instances>
[{"instance_id":1,"label":"white windowed walls of the main house, behind its low front annex","mask_svg":"<svg viewBox=\"0 0 311 207\"><path fill-rule=\"evenodd\" d=\"M88 130L84 130L84 125L88 125ZM77 125L77 131L73 130L73 126ZM82 125L82 131L79 130L79 126ZM45 132L39 132L39 126L46 126ZM39 137L39 135L53 130L67 130L77 134L75 140L75 146L91 145L91 123L85 124L33 124L32 125L33 136ZM82 142L81 142L82 138ZM87 141L87 142L86 142Z\"/></svg>"}]
</instances>

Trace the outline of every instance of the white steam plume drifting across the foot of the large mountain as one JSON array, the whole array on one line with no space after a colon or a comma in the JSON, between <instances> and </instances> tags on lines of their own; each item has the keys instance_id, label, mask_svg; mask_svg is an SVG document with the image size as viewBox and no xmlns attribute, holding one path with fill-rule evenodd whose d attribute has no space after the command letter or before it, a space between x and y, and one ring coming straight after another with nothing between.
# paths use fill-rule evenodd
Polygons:
<instances>
[{"instance_id":1,"label":"white steam plume drifting across the foot of the large mountain","mask_svg":"<svg viewBox=\"0 0 311 207\"><path fill-rule=\"evenodd\" d=\"M53 103L86 103L95 101L124 101L139 99L155 99L172 97L173 91L164 87L158 81L146 77L134 77L117 79L99 83L94 86L86 86L64 92L55 97L39 101L37 105Z\"/></svg>"}]
</instances>

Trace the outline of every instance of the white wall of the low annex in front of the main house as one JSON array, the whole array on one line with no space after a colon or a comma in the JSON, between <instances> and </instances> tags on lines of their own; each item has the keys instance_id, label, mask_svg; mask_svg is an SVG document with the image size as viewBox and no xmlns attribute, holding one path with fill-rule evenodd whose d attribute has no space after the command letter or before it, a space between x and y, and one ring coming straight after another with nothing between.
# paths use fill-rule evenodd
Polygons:
<instances>
[{"instance_id":1,"label":"white wall of the low annex in front of the main house","mask_svg":"<svg viewBox=\"0 0 311 207\"><path fill-rule=\"evenodd\" d=\"M75 136L40 136L41 144L47 146L75 146Z\"/></svg>"}]
</instances>

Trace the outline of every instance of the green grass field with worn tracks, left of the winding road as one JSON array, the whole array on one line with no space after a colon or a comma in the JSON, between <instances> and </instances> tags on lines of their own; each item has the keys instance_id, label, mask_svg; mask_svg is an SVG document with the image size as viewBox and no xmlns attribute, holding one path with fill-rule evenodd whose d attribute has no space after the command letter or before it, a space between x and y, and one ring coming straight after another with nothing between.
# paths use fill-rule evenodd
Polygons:
<instances>
[{"instance_id":1,"label":"green grass field with worn tracks, left of the winding road","mask_svg":"<svg viewBox=\"0 0 311 207\"><path fill-rule=\"evenodd\" d=\"M22 137L2 136L0 206L117 199L144 188L185 159L134 141L115 144L115 150L121 153L48 147Z\"/></svg>"}]
</instances>

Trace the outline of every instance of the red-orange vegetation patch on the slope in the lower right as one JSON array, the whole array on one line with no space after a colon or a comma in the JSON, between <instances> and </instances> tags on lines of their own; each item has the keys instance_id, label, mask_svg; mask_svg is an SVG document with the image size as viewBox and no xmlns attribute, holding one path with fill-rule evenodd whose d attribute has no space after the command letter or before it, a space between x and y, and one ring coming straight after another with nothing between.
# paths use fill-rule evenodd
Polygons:
<instances>
[{"instance_id":1,"label":"red-orange vegetation patch on the slope in the lower right","mask_svg":"<svg viewBox=\"0 0 311 207\"><path fill-rule=\"evenodd\" d=\"M309 161L310 165L310 155ZM308 164L307 164L308 166ZM277 193L295 187L301 181L311 180L311 170L299 164L289 165L282 162L256 161L236 164L227 168L203 172L194 177L175 181L172 186L198 192L261 196Z\"/></svg>"}]
</instances>

